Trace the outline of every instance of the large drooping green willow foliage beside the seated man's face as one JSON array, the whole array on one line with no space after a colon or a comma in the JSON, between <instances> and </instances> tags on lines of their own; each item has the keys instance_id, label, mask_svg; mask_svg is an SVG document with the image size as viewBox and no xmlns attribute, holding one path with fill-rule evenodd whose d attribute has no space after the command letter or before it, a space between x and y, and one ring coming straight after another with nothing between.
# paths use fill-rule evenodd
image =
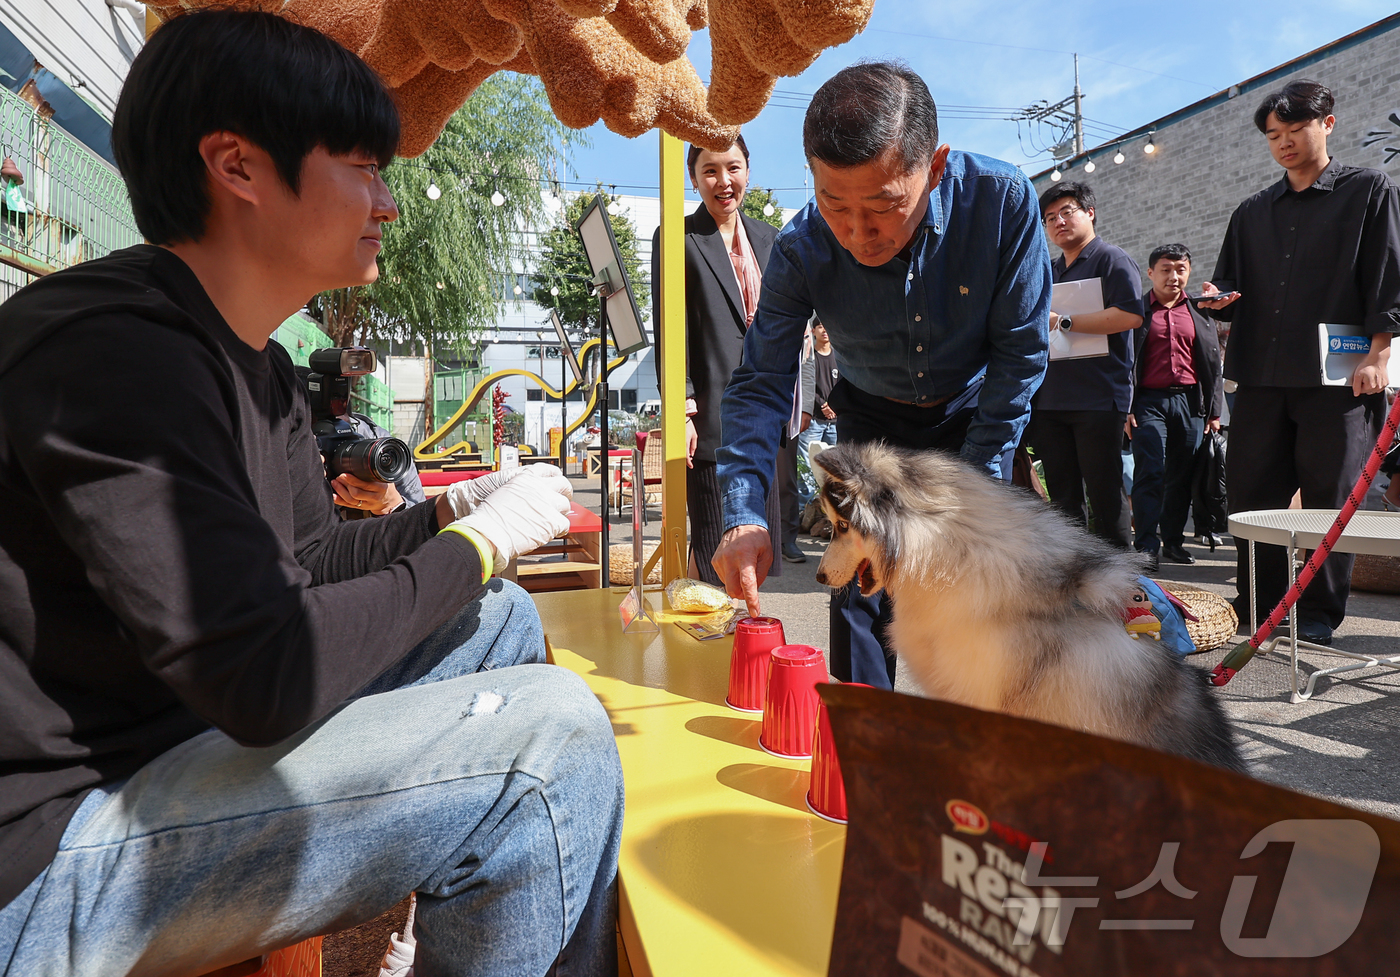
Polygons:
<instances>
[{"instance_id":1,"label":"large drooping green willow foliage beside the seated man's face","mask_svg":"<svg viewBox=\"0 0 1400 977\"><path fill-rule=\"evenodd\" d=\"M326 332L340 344L392 337L468 349L514 298L521 230L547 218L540 179L571 139L538 78L487 78L427 153L384 171L399 218L385 225L379 280L318 297L312 312Z\"/></svg>"}]
</instances>

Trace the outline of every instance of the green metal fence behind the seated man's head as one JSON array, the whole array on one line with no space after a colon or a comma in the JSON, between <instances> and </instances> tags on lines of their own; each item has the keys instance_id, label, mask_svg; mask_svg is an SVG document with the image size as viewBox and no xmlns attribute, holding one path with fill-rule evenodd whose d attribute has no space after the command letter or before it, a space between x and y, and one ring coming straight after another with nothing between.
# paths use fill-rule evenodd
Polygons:
<instances>
[{"instance_id":1,"label":"green metal fence behind the seated man's head","mask_svg":"<svg viewBox=\"0 0 1400 977\"><path fill-rule=\"evenodd\" d=\"M0 181L0 301L36 276L141 242L116 168L7 88L0 155L24 179Z\"/></svg>"}]
</instances>

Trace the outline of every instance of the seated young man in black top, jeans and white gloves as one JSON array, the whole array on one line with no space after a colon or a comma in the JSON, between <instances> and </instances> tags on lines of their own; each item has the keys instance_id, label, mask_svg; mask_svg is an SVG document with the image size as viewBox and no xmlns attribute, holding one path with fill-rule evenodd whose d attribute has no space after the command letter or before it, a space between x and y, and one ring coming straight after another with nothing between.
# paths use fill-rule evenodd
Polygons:
<instances>
[{"instance_id":1,"label":"seated young man in black top, jeans and white gloves","mask_svg":"<svg viewBox=\"0 0 1400 977\"><path fill-rule=\"evenodd\" d=\"M557 470L332 512L277 325L374 281L399 119L333 41L195 13L112 143L151 244L0 307L0 960L206 973L419 893L417 973L616 973L608 717L494 565Z\"/></svg>"}]
</instances>

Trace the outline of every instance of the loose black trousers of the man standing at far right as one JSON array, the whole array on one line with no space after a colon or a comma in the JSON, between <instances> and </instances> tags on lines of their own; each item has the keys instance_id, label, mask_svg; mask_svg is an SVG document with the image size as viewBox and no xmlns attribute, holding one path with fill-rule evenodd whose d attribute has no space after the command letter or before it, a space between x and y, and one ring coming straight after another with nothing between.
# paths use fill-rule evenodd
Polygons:
<instances>
[{"instance_id":1,"label":"loose black trousers of the man standing at far right","mask_svg":"<svg viewBox=\"0 0 1400 977\"><path fill-rule=\"evenodd\" d=\"M1235 395L1225 455L1231 512L1284 509L1295 491L1303 508L1340 509L1361 476L1385 424L1380 393L1352 396L1350 386L1245 386ZM1239 575L1236 612L1249 621L1249 542L1235 540ZM1281 546L1256 544L1259 620L1288 589ZM1330 627L1347 616L1350 553L1333 553L1298 600L1299 619Z\"/></svg>"}]
</instances>

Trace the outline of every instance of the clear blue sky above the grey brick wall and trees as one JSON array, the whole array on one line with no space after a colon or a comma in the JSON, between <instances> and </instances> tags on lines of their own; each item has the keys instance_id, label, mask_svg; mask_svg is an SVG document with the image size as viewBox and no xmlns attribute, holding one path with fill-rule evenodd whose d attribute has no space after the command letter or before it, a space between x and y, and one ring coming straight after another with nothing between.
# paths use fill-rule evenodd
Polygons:
<instances>
[{"instance_id":1,"label":"clear blue sky above the grey brick wall and trees","mask_svg":"<svg viewBox=\"0 0 1400 977\"><path fill-rule=\"evenodd\" d=\"M1074 91L1071 53L1078 52L1084 115L1093 123L1092 133L1105 136L1086 133L1085 141L1093 147L1109 141L1109 133L1135 129L1392 13L1393 0L876 0L864 34L825 52L804 74L778 78L783 94L743 127L753 182L778 188L785 207L805 202L804 97L862 57L902 57L924 77L939 106L942 141L1037 172L1049 165L1049 157L1036 154L1025 140L1025 126L1018 140L1012 122L959 118L995 112L953 106L1056 102ZM708 78L707 31L696 32L689 55L700 77ZM655 192L644 189L658 185L655 133L623 139L596 125L588 136L592 147L573 153L575 172L570 179L616 185L619 193Z\"/></svg>"}]
</instances>

